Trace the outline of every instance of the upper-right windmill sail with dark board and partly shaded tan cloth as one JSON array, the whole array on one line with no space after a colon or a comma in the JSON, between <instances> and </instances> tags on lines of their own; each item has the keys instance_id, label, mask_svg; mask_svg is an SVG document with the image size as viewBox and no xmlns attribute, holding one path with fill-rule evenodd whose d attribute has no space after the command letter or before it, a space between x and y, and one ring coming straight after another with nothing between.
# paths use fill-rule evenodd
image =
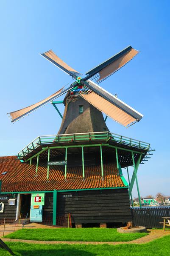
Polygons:
<instances>
[{"instance_id":1,"label":"upper-right windmill sail with dark board and partly shaded tan cloth","mask_svg":"<svg viewBox=\"0 0 170 256\"><path fill-rule=\"evenodd\" d=\"M89 70L86 73L87 77L84 78L84 80L91 78L92 80L95 80L96 83L101 83L103 80L113 75L114 72L117 72L117 70L122 68L138 53L139 51L135 50L131 46L128 46L121 52L117 53L105 62L101 63L99 66Z\"/></svg>"}]
</instances>

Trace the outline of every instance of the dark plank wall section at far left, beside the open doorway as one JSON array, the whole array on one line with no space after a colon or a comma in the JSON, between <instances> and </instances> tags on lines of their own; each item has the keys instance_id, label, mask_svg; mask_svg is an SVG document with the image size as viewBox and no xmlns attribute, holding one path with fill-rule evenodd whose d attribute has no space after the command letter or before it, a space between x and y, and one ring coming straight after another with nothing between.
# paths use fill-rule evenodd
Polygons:
<instances>
[{"instance_id":1,"label":"dark plank wall section at far left, beside the open doorway","mask_svg":"<svg viewBox=\"0 0 170 256\"><path fill-rule=\"evenodd\" d=\"M8 196L7 194L1 194L0 197L6 197ZM15 220L16 217L16 209L17 209L17 194L15 194L16 200L15 200L15 205L8 205L8 199L10 198L8 196L8 199L6 200L0 200L0 202L4 203L4 210L3 213L0 213L0 222L4 218L7 220Z\"/></svg>"}]
</instances>

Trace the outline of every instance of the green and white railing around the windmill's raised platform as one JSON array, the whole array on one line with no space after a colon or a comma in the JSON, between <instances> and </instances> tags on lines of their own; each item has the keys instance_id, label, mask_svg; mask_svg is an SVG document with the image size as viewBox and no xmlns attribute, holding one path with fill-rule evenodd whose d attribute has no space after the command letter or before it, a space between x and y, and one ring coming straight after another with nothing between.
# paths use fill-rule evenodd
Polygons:
<instances>
[{"instance_id":1,"label":"green and white railing around the windmill's raised platform","mask_svg":"<svg viewBox=\"0 0 170 256\"><path fill-rule=\"evenodd\" d=\"M26 147L18 152L18 158L23 158L29 153L36 151L39 145L47 144L61 144L72 142L91 142L91 141L104 141L116 142L118 144L128 145L137 149L150 150L150 144L144 141L138 141L133 138L128 138L112 132L84 132L84 133L70 133L59 135L42 135L38 136L35 140L31 141Z\"/></svg>"}]
</instances>

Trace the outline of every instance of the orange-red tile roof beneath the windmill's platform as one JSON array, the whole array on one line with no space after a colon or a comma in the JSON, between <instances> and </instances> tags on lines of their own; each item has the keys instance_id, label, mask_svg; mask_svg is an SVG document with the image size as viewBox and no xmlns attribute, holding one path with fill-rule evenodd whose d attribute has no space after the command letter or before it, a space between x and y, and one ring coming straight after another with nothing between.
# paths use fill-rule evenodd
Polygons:
<instances>
[{"instance_id":1,"label":"orange-red tile roof beneath the windmill's platform","mask_svg":"<svg viewBox=\"0 0 170 256\"><path fill-rule=\"evenodd\" d=\"M64 166L50 166L47 181L47 163L39 163L36 177L36 163L21 163L16 156L0 157L0 180L2 192L77 190L90 188L125 187L115 164L84 167L67 167L67 180L64 178ZM7 172L6 174L2 174Z\"/></svg>"}]
</instances>

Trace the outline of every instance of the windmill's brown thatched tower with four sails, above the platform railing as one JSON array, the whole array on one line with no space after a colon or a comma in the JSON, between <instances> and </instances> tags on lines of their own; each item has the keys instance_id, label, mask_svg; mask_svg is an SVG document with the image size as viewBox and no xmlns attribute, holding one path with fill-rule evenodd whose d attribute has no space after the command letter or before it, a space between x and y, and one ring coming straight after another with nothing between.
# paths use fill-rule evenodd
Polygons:
<instances>
[{"instance_id":1,"label":"windmill's brown thatched tower with four sails, above the platform railing","mask_svg":"<svg viewBox=\"0 0 170 256\"><path fill-rule=\"evenodd\" d=\"M72 78L75 79L75 82L66 89L62 87L53 95L50 95L36 104L8 113L11 116L11 122L19 120L45 104L52 102L54 99L59 98L61 95L66 94L66 97L64 98L64 105L66 107L59 134L78 131L100 132L103 131L103 129L108 131L102 112L114 121L122 124L124 127L131 126L137 121L140 121L143 115L117 98L117 95L112 95L98 84L117 72L138 53L139 51L128 46L121 52L96 66L94 69L86 72L86 76L84 78L81 78L81 73L68 66L67 63L61 60L52 50L40 54L59 69L67 73L67 75L72 76ZM73 99L74 101L72 101ZM70 119L68 118L70 117L70 113L67 106L70 101L72 103L75 102L75 99L77 104L75 104L76 106L74 106L74 104L72 106L73 111ZM79 126L77 127L78 116L75 115L74 107L79 106L79 112L81 113L81 110L83 112L83 109L81 108L84 105L86 105L87 109L86 114L81 115L81 120L79 120ZM87 120L88 125L84 126L82 119ZM98 120L100 120L100 124L98 123Z\"/></svg>"}]
</instances>

